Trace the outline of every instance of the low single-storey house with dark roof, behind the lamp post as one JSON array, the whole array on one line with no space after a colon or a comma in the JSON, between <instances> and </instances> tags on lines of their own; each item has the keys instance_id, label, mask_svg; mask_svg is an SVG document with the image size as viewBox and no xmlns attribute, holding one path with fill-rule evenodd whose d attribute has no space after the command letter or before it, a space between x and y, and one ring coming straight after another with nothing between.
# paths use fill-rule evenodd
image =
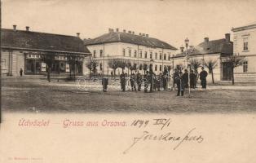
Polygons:
<instances>
[{"instance_id":1,"label":"low single-storey house with dark roof, behind the lamp post","mask_svg":"<svg viewBox=\"0 0 256 163\"><path fill-rule=\"evenodd\" d=\"M197 46L190 46L188 51L182 51L180 54L175 55L174 59L174 68L177 65L180 65L183 68L186 68L186 59L185 56L188 53L188 63L192 63L192 59L196 59L201 64L200 68L197 68L197 72L201 72L201 67L204 67L205 70L209 73L207 81L211 82L212 77L211 73L214 73L214 81L231 81L232 80L232 68L227 59L228 55L233 53L233 42L230 41L230 34L225 34L225 38L218 40L209 40L209 37L205 37L204 42L201 42ZM204 66L204 63L209 62L210 60L217 62L217 66L211 72L207 67ZM191 64L191 68L193 68Z\"/></svg>"}]
</instances>

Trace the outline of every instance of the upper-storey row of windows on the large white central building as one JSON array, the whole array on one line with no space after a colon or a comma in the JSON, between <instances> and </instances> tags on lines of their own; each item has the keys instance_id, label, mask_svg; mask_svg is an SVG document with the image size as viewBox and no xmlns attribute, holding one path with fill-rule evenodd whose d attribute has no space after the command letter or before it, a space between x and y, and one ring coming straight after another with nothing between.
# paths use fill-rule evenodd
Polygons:
<instances>
[{"instance_id":1,"label":"upper-storey row of windows on the large white central building","mask_svg":"<svg viewBox=\"0 0 256 163\"><path fill-rule=\"evenodd\" d=\"M123 49L123 50L122 50L122 55L123 55L123 56L126 56L126 49ZM131 52L130 49L128 50L128 56L129 56L129 57L132 57L132 52ZM97 57L97 51L93 51L93 57L94 57L94 58ZM99 50L99 57L103 57L103 50ZM133 53L133 57L137 58L137 51L136 51L136 50L135 50L134 53ZM142 52L142 51L139 51L139 58L145 58L145 59L147 59L147 58L148 58L148 51L144 51L144 55L143 55L143 52ZM149 59L153 59L153 54L152 54L152 52L149 53ZM157 54L157 52L156 52L154 59L170 60L170 59L171 59L171 56L170 56L170 54L169 54L168 57L167 57L167 55L164 54L163 57L162 57L162 54L159 53L159 57L158 57L158 54Z\"/></svg>"}]
</instances>

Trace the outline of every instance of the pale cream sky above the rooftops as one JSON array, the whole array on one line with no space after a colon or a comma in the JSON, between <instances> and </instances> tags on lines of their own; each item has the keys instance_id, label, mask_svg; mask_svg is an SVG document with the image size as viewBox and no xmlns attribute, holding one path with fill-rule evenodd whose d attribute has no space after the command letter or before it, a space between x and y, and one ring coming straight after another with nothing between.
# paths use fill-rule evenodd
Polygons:
<instances>
[{"instance_id":1,"label":"pale cream sky above the rooftops","mask_svg":"<svg viewBox=\"0 0 256 163\"><path fill-rule=\"evenodd\" d=\"M108 29L148 33L179 48L256 21L256 0L2 0L2 28L94 38Z\"/></svg>"}]
</instances>

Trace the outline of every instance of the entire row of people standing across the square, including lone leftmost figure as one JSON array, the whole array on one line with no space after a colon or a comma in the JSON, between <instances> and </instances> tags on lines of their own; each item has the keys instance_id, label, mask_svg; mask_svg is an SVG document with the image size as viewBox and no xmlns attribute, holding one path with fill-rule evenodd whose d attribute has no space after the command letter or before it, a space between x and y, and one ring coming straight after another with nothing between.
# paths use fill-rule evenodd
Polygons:
<instances>
[{"instance_id":1,"label":"entire row of people standing across the square, including lone leftmost figure","mask_svg":"<svg viewBox=\"0 0 256 163\"><path fill-rule=\"evenodd\" d=\"M201 86L203 89L206 88L206 77L208 73L205 71L205 68L201 68L201 73L199 74L200 80L201 80ZM190 80L188 80L188 77ZM174 85L177 86L177 96L184 95L184 90L188 88L188 81L189 86L192 89L196 88L196 82L197 82L197 75L192 70L188 76L188 70L185 69L184 73L182 71L179 71L177 68L174 69L173 74L173 81ZM144 88L144 92L152 92L153 90L167 90L168 89L168 81L170 80L170 74L167 71L167 69L164 70L163 73L160 73L159 75L156 75L152 72L152 68L149 68L149 71L147 71L143 76L137 72L137 73L131 73L130 77L128 77L127 73L121 73L120 75L120 85L121 85L121 91L126 91L126 86L128 81L130 81L130 88L132 91L140 91L142 88ZM102 80L103 90L107 91L108 88L108 78L103 78Z\"/></svg>"}]
</instances>

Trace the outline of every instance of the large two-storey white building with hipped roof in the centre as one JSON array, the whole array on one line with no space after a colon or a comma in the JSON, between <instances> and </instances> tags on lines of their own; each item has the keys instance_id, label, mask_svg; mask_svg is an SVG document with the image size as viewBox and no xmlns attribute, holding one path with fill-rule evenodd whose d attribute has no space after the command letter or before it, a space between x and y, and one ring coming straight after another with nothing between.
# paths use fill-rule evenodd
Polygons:
<instances>
[{"instance_id":1,"label":"large two-storey white building with hipped roof in the centre","mask_svg":"<svg viewBox=\"0 0 256 163\"><path fill-rule=\"evenodd\" d=\"M172 55L177 50L174 46L149 37L148 34L135 34L133 31L119 31L108 29L105 33L94 39L85 39L85 45L92 54L92 59L99 62L97 72L110 75L113 72L109 68L110 59L130 60L143 73L143 64L152 64L154 73L162 73L164 67L172 65ZM128 69L125 70L128 72ZM116 74L121 73L121 68L117 68Z\"/></svg>"}]
</instances>

